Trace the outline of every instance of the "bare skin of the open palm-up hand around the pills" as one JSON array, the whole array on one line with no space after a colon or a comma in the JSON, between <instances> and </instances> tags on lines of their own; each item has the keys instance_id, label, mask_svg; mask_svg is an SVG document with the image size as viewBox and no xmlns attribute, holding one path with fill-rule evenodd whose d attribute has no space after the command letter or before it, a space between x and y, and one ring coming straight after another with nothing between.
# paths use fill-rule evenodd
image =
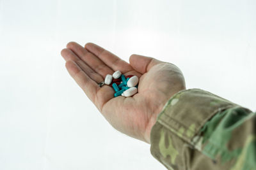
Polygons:
<instances>
[{"instance_id":1,"label":"bare skin of the open palm-up hand around the pills","mask_svg":"<svg viewBox=\"0 0 256 170\"><path fill-rule=\"evenodd\" d=\"M61 50L68 73L115 129L132 138L150 143L150 131L164 104L186 89L180 69L152 57L131 55L129 62L93 43L84 47L70 42ZM98 83L107 74L120 70L125 76L139 77L138 93L113 97L112 87Z\"/></svg>"}]
</instances>

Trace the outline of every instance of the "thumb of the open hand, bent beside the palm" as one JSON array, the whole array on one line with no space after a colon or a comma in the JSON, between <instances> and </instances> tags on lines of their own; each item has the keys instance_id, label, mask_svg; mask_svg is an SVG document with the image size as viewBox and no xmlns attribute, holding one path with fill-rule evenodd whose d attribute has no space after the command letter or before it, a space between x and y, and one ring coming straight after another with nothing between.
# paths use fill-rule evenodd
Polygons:
<instances>
[{"instance_id":1,"label":"thumb of the open hand, bent beside the palm","mask_svg":"<svg viewBox=\"0 0 256 170\"><path fill-rule=\"evenodd\" d=\"M147 73L151 67L156 64L163 63L160 60L154 59L152 57L145 57L142 55L133 54L130 57L130 64L135 71L141 74Z\"/></svg>"}]
</instances>

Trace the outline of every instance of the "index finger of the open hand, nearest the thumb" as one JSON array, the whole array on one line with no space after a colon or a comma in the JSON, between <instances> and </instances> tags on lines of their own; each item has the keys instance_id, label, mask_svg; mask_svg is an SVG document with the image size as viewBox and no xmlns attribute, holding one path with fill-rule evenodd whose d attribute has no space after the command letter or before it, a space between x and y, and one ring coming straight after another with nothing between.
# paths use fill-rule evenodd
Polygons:
<instances>
[{"instance_id":1,"label":"index finger of the open hand, nearest the thumb","mask_svg":"<svg viewBox=\"0 0 256 170\"><path fill-rule=\"evenodd\" d=\"M120 59L113 53L105 50L104 48L95 45L93 43L87 43L85 46L86 50L92 52L94 55L99 57L106 65L111 67L114 71L121 71L122 73L127 73L132 70L132 67L129 63L125 62L124 60Z\"/></svg>"}]
</instances>

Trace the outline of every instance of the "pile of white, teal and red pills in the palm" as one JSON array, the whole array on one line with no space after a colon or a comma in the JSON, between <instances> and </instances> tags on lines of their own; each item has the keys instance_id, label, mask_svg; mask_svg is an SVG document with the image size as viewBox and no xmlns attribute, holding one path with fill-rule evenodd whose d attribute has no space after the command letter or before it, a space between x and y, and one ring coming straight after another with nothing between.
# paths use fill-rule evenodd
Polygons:
<instances>
[{"instance_id":1,"label":"pile of white, teal and red pills in the palm","mask_svg":"<svg viewBox=\"0 0 256 170\"><path fill-rule=\"evenodd\" d=\"M114 97L130 97L138 92L138 76L124 76L121 71L116 71L113 75L106 75L104 83L110 85L115 90Z\"/></svg>"}]
</instances>

